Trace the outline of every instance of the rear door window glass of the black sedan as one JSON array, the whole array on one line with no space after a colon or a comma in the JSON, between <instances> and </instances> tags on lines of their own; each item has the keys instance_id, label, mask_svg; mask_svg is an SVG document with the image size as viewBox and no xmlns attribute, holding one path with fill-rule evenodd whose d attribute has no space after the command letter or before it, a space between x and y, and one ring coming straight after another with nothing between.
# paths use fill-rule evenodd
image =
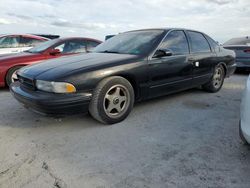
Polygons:
<instances>
[{"instance_id":1,"label":"rear door window glass of the black sedan","mask_svg":"<svg viewBox=\"0 0 250 188\"><path fill-rule=\"evenodd\" d=\"M188 31L192 52L211 52L210 46L203 34Z\"/></svg>"}]
</instances>

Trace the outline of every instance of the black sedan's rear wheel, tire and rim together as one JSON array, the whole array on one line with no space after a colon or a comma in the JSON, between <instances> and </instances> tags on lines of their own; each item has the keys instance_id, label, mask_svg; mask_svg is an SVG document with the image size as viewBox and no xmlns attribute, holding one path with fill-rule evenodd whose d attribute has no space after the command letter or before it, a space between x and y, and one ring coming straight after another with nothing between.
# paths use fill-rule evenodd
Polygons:
<instances>
[{"instance_id":1,"label":"black sedan's rear wheel, tire and rim together","mask_svg":"<svg viewBox=\"0 0 250 188\"><path fill-rule=\"evenodd\" d=\"M220 80L215 79L215 76L217 76L218 74L217 71L219 71L219 74L221 74L221 77L219 78ZM220 91L224 83L225 75L226 74L225 74L224 67L222 65L217 65L214 69L214 74L212 78L210 79L208 83L204 84L202 88L210 93L216 93ZM218 83L219 81L220 83L216 85L216 83Z\"/></svg>"}]
</instances>

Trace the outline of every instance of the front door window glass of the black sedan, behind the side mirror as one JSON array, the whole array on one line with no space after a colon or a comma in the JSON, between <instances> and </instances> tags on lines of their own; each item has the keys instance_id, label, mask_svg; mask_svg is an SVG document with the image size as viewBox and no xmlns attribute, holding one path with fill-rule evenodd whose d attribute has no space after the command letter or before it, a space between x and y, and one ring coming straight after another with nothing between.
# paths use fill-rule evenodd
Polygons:
<instances>
[{"instance_id":1,"label":"front door window glass of the black sedan, behind the side mirror","mask_svg":"<svg viewBox=\"0 0 250 188\"><path fill-rule=\"evenodd\" d=\"M187 38L183 31L169 33L160 48L169 49L175 55L189 53Z\"/></svg>"}]
</instances>

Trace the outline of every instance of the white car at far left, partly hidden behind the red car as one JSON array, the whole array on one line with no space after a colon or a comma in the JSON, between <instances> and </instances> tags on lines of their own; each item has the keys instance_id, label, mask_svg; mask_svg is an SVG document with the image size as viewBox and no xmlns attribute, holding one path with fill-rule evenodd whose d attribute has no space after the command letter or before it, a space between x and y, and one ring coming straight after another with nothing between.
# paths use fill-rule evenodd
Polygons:
<instances>
[{"instance_id":1,"label":"white car at far left, partly hidden behind the red car","mask_svg":"<svg viewBox=\"0 0 250 188\"><path fill-rule=\"evenodd\" d=\"M0 55L23 52L48 40L45 37L28 34L0 35Z\"/></svg>"}]
</instances>

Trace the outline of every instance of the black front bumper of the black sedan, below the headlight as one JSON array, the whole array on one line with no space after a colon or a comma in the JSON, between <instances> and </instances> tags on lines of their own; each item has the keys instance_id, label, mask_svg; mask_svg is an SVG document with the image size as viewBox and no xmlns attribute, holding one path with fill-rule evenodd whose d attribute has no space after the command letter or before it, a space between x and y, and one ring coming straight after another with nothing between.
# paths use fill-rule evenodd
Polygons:
<instances>
[{"instance_id":1,"label":"black front bumper of the black sedan, below the headlight","mask_svg":"<svg viewBox=\"0 0 250 188\"><path fill-rule=\"evenodd\" d=\"M88 111L91 93L55 94L26 89L19 82L11 84L12 95L25 107L49 114L75 114Z\"/></svg>"}]
</instances>

